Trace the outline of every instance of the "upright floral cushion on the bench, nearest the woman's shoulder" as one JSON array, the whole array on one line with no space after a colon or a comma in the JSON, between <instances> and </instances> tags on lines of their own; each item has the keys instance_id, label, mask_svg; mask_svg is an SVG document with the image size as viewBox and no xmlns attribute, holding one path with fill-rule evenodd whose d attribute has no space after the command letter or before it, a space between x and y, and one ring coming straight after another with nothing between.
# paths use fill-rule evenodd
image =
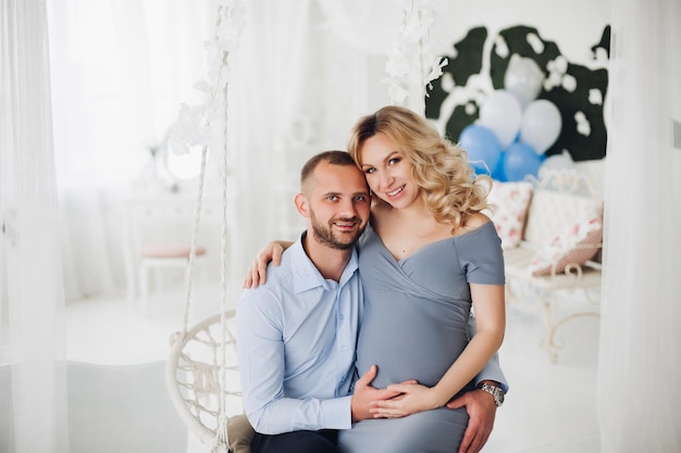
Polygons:
<instances>
[{"instance_id":1,"label":"upright floral cushion on the bench, nearest the woman's shoulder","mask_svg":"<svg viewBox=\"0 0 681 453\"><path fill-rule=\"evenodd\" d=\"M502 248L512 249L522 238L532 197L532 185L528 181L494 181L487 202L493 205L492 221L502 239Z\"/></svg>"}]
</instances>

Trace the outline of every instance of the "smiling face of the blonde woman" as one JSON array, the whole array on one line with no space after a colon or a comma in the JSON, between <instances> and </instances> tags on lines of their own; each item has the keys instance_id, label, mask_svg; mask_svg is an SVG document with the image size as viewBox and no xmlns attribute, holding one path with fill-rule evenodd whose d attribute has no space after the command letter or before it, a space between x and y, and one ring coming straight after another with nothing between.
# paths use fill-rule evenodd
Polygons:
<instances>
[{"instance_id":1,"label":"smiling face of the blonde woman","mask_svg":"<svg viewBox=\"0 0 681 453\"><path fill-rule=\"evenodd\" d=\"M398 151L395 142L377 133L359 149L362 172L371 191L395 209L411 205L420 187L411 175L411 162Z\"/></svg>"}]
</instances>

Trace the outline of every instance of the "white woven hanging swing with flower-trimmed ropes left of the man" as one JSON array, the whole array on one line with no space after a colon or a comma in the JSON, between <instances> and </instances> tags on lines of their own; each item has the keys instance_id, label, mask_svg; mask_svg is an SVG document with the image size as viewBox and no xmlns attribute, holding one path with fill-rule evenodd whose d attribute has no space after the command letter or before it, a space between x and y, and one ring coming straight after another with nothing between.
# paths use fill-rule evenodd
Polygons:
<instances>
[{"instance_id":1,"label":"white woven hanging swing with flower-trimmed ropes left of the man","mask_svg":"<svg viewBox=\"0 0 681 453\"><path fill-rule=\"evenodd\" d=\"M227 124L227 56L228 46L225 46L224 37L240 30L243 26L244 10L238 1L220 1L219 13L213 37L213 47L219 50L212 66L216 71L209 71L214 79L209 84L211 89L203 106L203 114L198 124L193 126L195 134L211 134L215 129L215 122L220 127L223 146L221 159L222 166L222 235L221 235L221 300L219 313L188 326L189 306L191 303L191 280L194 261L197 251L197 238L201 216L201 201L206 178L206 162L208 147L202 146L200 173L198 178L198 197L194 219L191 250L189 254L188 269L186 273L186 297L184 324L182 331L171 337L171 351L165 367L165 381L179 417L203 444L210 445L213 453L230 451L227 439L227 421L230 418L244 413L242 391L238 378L238 364L236 356L236 323L235 311L227 309L226 303L226 262L227 262L227 150L226 150L226 124ZM191 109L183 106L183 113L187 115ZM188 114L190 115L190 113ZM215 121L220 118L220 121ZM185 118L186 119L186 118ZM182 129L182 128L181 128ZM205 138L205 137L203 137ZM182 140L181 140L182 141ZM189 140L187 140L189 141ZM208 142L207 140L203 141ZM196 143L190 143L196 144ZM185 146L188 148L188 146ZM243 418L243 415L242 417Z\"/></svg>"}]
</instances>

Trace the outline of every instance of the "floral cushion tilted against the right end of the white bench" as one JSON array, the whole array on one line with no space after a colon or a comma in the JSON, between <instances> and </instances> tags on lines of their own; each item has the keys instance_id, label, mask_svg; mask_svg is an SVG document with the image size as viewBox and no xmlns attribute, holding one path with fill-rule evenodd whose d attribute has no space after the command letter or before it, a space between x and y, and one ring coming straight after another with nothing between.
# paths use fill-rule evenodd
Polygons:
<instances>
[{"instance_id":1,"label":"floral cushion tilted against the right end of the white bench","mask_svg":"<svg viewBox=\"0 0 681 453\"><path fill-rule=\"evenodd\" d=\"M557 234L540 249L530 262L535 277L549 275L556 263L556 274L562 273L568 264L580 266L598 253L603 240L603 222L599 216L585 217Z\"/></svg>"}]
</instances>

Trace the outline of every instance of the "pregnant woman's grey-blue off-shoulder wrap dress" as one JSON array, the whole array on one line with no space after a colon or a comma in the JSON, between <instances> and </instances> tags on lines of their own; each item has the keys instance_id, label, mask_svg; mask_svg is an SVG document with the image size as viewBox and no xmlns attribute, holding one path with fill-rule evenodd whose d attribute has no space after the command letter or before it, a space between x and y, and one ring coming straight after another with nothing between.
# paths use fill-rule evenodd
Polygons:
<instances>
[{"instance_id":1,"label":"pregnant woman's grey-blue off-shoulder wrap dress","mask_svg":"<svg viewBox=\"0 0 681 453\"><path fill-rule=\"evenodd\" d=\"M359 268L364 315L357 366L360 376L379 366L376 388L408 379L434 386L468 343L469 284L504 284L504 256L492 222L401 261L369 226L360 241ZM467 425L465 408L441 407L359 421L340 431L339 444L347 453L454 453Z\"/></svg>"}]
</instances>

